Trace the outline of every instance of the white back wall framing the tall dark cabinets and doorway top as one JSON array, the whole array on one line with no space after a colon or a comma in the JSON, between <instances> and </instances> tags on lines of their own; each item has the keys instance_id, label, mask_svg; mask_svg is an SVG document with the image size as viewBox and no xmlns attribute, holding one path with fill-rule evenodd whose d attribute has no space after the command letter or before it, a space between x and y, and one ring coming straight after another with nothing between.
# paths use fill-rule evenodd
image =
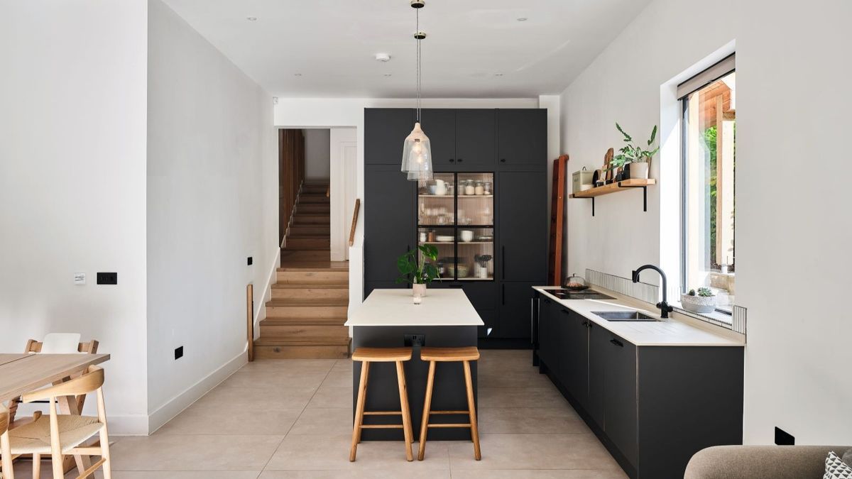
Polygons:
<instances>
[{"instance_id":1,"label":"white back wall framing the tall dark cabinets and doorway top","mask_svg":"<svg viewBox=\"0 0 852 479\"><path fill-rule=\"evenodd\" d=\"M548 97L542 97L547 99ZM423 108L554 108L557 101L550 99L547 105L539 104L537 98L428 98ZM364 248L364 108L412 108L415 101L380 98L279 98L275 106L275 125L279 128L319 128L327 126L354 126L357 132L358 164L356 165L357 188L361 210L355 244L349 250L349 306L360 302L363 297L363 248ZM552 115L548 115L551 118ZM428 132L427 132L428 133ZM401 140L400 140L401 141ZM548 137L548 152L558 147L558 136ZM549 159L549 164L550 164Z\"/></svg>"}]
</instances>

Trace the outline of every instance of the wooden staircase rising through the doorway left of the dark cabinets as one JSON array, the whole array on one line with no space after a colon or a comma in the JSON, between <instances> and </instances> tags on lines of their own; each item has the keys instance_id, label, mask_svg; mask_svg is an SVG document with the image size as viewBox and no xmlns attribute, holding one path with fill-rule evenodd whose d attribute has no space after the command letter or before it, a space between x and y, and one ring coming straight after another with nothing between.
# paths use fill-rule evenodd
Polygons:
<instances>
[{"instance_id":1,"label":"wooden staircase rising through the doorway left of the dark cabinets","mask_svg":"<svg viewBox=\"0 0 852 479\"><path fill-rule=\"evenodd\" d=\"M349 270L330 261L327 184L305 184L255 341L261 358L347 358Z\"/></svg>"}]
</instances>

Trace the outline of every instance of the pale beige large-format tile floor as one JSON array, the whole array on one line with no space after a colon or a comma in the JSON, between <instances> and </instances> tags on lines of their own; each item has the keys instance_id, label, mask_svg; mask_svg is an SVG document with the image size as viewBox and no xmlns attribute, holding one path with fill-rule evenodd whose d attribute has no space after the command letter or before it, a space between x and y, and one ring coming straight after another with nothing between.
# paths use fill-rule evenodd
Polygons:
<instances>
[{"instance_id":1,"label":"pale beige large-format tile floor","mask_svg":"<svg viewBox=\"0 0 852 479\"><path fill-rule=\"evenodd\" d=\"M112 476L626 477L529 358L529 351L482 351L479 462L467 441L431 441L426 459L412 463L406 462L401 441L366 441L358 447L358 460L350 463L352 361L276 360L245 365L152 436L114 437ZM43 476L49 476L45 466ZM30 479L27 463L15 472L16 478Z\"/></svg>"}]
</instances>

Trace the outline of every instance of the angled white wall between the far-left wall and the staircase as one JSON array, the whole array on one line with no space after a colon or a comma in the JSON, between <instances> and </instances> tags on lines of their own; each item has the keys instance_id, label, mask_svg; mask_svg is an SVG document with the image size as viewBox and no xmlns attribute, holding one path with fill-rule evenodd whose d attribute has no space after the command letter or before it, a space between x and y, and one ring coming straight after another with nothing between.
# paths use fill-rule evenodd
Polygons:
<instances>
[{"instance_id":1,"label":"angled white wall between the far-left wall and the staircase","mask_svg":"<svg viewBox=\"0 0 852 479\"><path fill-rule=\"evenodd\" d=\"M160 0L149 5L147 383L155 430L245 362L245 286L265 291L278 250L278 174L272 97ZM184 356L175 361L178 346Z\"/></svg>"}]
</instances>

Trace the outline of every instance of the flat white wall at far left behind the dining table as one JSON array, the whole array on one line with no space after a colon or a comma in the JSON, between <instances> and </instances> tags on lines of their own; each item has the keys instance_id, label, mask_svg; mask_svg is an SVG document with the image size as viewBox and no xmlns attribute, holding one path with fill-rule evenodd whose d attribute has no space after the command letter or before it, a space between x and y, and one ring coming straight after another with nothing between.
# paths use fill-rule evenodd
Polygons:
<instances>
[{"instance_id":1,"label":"flat white wall at far left behind the dining table","mask_svg":"<svg viewBox=\"0 0 852 479\"><path fill-rule=\"evenodd\" d=\"M0 3L0 59L0 351L98 339L111 432L146 432L147 2Z\"/></svg>"}]
</instances>

